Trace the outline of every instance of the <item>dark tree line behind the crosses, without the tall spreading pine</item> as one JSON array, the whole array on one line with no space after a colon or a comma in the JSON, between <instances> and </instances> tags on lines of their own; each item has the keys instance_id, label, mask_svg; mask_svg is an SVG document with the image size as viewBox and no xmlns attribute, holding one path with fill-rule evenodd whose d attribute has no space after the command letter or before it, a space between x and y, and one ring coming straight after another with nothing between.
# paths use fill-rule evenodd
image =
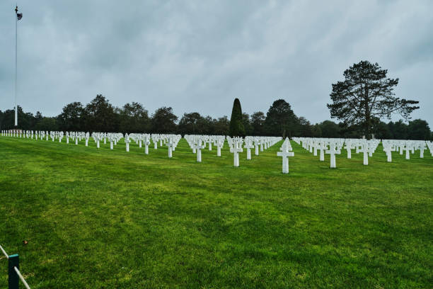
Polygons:
<instances>
[{"instance_id":1,"label":"dark tree line behind the crosses, without the tall spreading pine","mask_svg":"<svg viewBox=\"0 0 433 289\"><path fill-rule=\"evenodd\" d=\"M0 111L0 129L13 128L14 111ZM274 135L282 137L350 137L364 135L362 125L347 125L325 120L311 124L303 116L297 116L284 99L272 103L267 113L257 111L249 115L241 110L236 98L231 119L184 113L178 118L171 107L149 112L141 103L126 103L121 108L112 106L105 96L98 94L90 103L69 103L56 117L43 116L37 111L24 112L18 106L19 128L23 130L62 130L88 132L161 132L181 135ZM371 132L376 138L396 140L433 140L432 132L425 120L408 123L384 123L379 118L371 120Z\"/></svg>"}]
</instances>

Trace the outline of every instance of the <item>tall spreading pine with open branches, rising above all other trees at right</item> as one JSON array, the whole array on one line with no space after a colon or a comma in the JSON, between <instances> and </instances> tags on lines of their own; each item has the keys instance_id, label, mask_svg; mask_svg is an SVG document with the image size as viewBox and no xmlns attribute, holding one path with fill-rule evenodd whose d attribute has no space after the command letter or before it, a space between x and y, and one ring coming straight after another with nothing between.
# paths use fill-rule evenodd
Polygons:
<instances>
[{"instance_id":1,"label":"tall spreading pine with open branches, rising above all other trees at right","mask_svg":"<svg viewBox=\"0 0 433 289\"><path fill-rule=\"evenodd\" d=\"M328 103L332 118L342 120L347 125L359 125L367 138L371 138L374 118L391 118L399 113L405 120L419 106L418 101L395 96L393 90L398 79L386 78L387 69L379 64L362 61L353 64L344 72L345 81L333 84L331 101Z\"/></svg>"}]
</instances>

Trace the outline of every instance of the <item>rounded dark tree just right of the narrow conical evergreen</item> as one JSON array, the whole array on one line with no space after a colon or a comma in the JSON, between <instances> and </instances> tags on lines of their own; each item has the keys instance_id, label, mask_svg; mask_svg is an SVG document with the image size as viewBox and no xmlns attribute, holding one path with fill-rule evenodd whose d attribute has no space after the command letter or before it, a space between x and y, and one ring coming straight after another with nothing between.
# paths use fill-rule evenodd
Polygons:
<instances>
[{"instance_id":1,"label":"rounded dark tree just right of the narrow conical evergreen","mask_svg":"<svg viewBox=\"0 0 433 289\"><path fill-rule=\"evenodd\" d=\"M272 103L266 113L265 128L267 135L292 137L298 128L298 118L284 99Z\"/></svg>"}]
</instances>

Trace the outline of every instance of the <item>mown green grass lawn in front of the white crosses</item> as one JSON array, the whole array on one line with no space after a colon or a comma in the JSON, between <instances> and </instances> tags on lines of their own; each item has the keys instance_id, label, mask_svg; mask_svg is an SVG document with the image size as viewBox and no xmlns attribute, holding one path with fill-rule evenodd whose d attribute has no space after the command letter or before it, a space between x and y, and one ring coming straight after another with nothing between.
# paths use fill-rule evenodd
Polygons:
<instances>
[{"instance_id":1,"label":"mown green grass lawn in front of the white crosses","mask_svg":"<svg viewBox=\"0 0 433 289\"><path fill-rule=\"evenodd\" d=\"M292 141L284 175L280 145L234 168L227 143L199 164L185 140L168 159L0 137L0 244L33 289L432 288L428 151L329 169Z\"/></svg>"}]
</instances>

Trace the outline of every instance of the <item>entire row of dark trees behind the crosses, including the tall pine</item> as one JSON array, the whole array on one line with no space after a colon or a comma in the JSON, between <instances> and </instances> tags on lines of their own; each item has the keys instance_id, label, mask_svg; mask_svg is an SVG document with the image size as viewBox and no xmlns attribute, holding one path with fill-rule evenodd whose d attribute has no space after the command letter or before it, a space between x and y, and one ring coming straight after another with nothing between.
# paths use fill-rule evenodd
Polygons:
<instances>
[{"instance_id":1,"label":"entire row of dark trees behind the crosses, including the tall pine","mask_svg":"<svg viewBox=\"0 0 433 289\"><path fill-rule=\"evenodd\" d=\"M296 116L284 99L272 103L267 113L243 113L241 102L233 102L231 118L184 113L179 119L171 107L158 108L152 115L141 103L127 103L122 108L112 106L98 94L83 106L74 102L64 106L57 117L24 113L18 107L20 128L23 130L64 130L97 132L161 132L196 135L275 135L282 137L371 137L396 140L432 140L425 120L411 120L410 114L420 108L419 101L396 97L398 79L387 78L388 70L379 64L363 60L343 73L345 80L333 84L328 103L331 118L312 125L306 118ZM391 120L399 114L403 120ZM13 111L0 111L0 128L13 128Z\"/></svg>"}]
</instances>

